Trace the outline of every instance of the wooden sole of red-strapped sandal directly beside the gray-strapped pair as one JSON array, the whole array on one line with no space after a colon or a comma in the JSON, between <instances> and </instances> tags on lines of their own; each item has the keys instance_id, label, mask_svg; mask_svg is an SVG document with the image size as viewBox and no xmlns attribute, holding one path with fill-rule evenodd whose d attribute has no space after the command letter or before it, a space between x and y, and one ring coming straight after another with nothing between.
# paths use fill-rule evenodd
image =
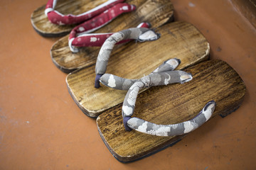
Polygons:
<instances>
[{"instance_id":1,"label":"wooden sole of red-strapped sandal directly beside the gray-strapped pair","mask_svg":"<svg viewBox=\"0 0 256 170\"><path fill-rule=\"evenodd\" d=\"M137 27L142 22L151 23L153 28L157 28L173 20L174 7L169 0L129 0L127 3L136 5L137 10L122 14L95 33L114 33ZM55 42L50 50L50 55L53 63L60 70L68 73L95 64L99 50L100 47L80 47L80 52L73 53L68 47L67 35Z\"/></svg>"}]
</instances>

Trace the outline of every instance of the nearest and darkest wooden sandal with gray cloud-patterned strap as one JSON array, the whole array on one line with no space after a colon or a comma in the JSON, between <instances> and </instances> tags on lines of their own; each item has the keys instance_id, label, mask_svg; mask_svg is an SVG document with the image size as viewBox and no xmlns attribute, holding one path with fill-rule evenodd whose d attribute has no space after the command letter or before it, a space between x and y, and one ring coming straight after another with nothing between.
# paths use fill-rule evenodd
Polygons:
<instances>
[{"instance_id":1,"label":"nearest and darkest wooden sandal with gray cloud-patterned strap","mask_svg":"<svg viewBox=\"0 0 256 170\"><path fill-rule=\"evenodd\" d=\"M133 162L159 152L209 118L224 117L242 103L245 84L227 63L210 60L183 71L191 73L193 79L185 84L151 87L138 95L132 111L129 103L133 101L129 100L134 96L130 91L123 104L97 118L100 136L117 160Z\"/></svg>"}]
</instances>

